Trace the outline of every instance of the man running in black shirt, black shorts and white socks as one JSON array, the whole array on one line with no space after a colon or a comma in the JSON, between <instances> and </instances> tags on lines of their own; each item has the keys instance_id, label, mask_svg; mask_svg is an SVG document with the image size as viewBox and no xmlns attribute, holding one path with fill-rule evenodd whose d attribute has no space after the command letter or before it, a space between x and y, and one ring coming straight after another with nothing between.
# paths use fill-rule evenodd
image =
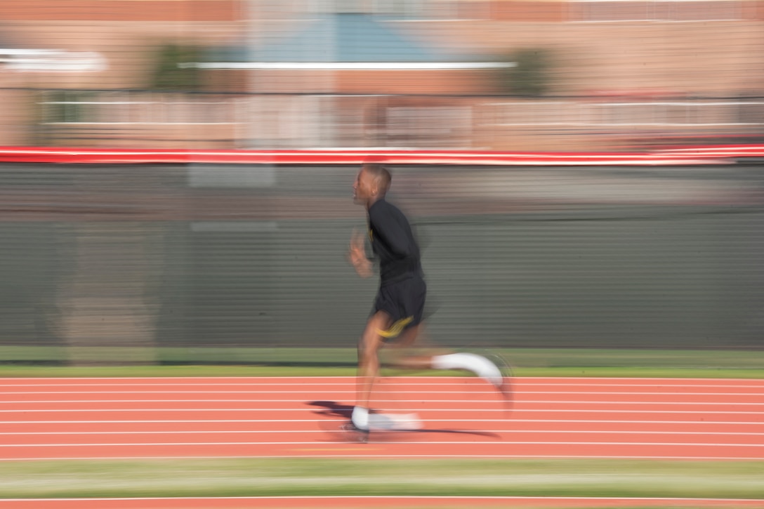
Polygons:
<instances>
[{"instance_id":1,"label":"man running in black shirt, black shorts and white socks","mask_svg":"<svg viewBox=\"0 0 764 509\"><path fill-rule=\"evenodd\" d=\"M369 412L374 381L379 376L379 352L395 340L410 347L422 322L427 287L410 223L403 212L385 200L390 188L390 172L379 164L364 164L353 184L354 203L366 207L368 238L380 264L380 288L371 317L358 344L358 399L351 422L358 430L389 426L390 420ZM361 277L371 277L372 262L364 248L364 235L354 232L348 258ZM507 384L500 368L481 355L451 353L403 357L393 360L400 368L463 369L472 371L507 396ZM375 423L376 421L376 423ZM385 424L388 423L388 424Z\"/></svg>"}]
</instances>

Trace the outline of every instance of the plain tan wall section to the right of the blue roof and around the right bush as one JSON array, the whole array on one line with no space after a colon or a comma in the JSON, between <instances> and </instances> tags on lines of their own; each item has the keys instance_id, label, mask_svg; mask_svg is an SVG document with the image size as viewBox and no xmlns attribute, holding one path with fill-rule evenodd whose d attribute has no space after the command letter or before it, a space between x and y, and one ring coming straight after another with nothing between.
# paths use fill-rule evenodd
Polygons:
<instances>
[{"instance_id":1,"label":"plain tan wall section to the right of the blue roof and around the right bush","mask_svg":"<svg viewBox=\"0 0 764 509\"><path fill-rule=\"evenodd\" d=\"M764 23L510 23L422 27L475 52L552 50L552 92L734 94L764 83Z\"/></svg>"}]
</instances>

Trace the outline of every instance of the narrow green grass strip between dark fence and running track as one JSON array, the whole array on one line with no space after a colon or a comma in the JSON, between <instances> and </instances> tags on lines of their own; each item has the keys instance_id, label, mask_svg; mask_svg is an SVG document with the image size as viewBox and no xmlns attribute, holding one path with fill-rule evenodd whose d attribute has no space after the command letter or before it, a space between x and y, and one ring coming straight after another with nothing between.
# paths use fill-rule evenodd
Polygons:
<instances>
[{"instance_id":1,"label":"narrow green grass strip between dark fence and running track","mask_svg":"<svg viewBox=\"0 0 764 509\"><path fill-rule=\"evenodd\" d=\"M764 378L764 351L758 350L499 349L497 352L510 361L517 376ZM351 376L355 374L355 355L352 348L83 350L5 346L0 347L3 362L0 376Z\"/></svg>"}]
</instances>

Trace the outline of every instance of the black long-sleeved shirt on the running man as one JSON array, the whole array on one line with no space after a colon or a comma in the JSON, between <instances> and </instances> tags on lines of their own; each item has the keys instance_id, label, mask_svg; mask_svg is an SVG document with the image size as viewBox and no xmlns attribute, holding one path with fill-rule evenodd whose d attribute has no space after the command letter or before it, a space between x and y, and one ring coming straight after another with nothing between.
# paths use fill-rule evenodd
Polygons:
<instances>
[{"instance_id":1,"label":"black long-sleeved shirt on the running man","mask_svg":"<svg viewBox=\"0 0 764 509\"><path fill-rule=\"evenodd\" d=\"M419 245L403 212L383 198L374 202L368 213L369 239L380 261L381 284L422 276Z\"/></svg>"}]
</instances>

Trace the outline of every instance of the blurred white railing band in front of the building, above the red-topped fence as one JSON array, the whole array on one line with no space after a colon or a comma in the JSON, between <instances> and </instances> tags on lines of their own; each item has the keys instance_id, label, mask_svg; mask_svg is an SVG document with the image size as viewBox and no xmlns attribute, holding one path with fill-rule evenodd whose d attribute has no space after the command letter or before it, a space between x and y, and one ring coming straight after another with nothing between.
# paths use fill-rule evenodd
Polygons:
<instances>
[{"instance_id":1,"label":"blurred white railing band in front of the building, above the red-topped fence","mask_svg":"<svg viewBox=\"0 0 764 509\"><path fill-rule=\"evenodd\" d=\"M205 132L232 138L235 148L470 148L475 133L539 136L575 131L660 129L671 135L758 131L764 101L740 99L594 100L407 98L385 96L207 96L150 92L88 92L80 98L40 102L50 132L166 129L198 140ZM147 134L148 133L148 134ZM179 138L180 137L180 138ZM490 148L490 147L489 147Z\"/></svg>"}]
</instances>

